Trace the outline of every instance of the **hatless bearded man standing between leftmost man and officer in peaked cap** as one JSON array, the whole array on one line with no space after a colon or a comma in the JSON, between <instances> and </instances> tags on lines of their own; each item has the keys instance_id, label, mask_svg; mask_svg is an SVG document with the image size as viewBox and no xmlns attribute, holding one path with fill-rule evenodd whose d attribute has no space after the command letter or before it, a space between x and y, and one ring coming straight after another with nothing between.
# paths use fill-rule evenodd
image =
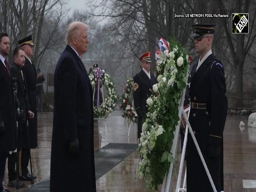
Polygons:
<instances>
[{"instance_id":1,"label":"hatless bearded man standing between leftmost man and officer in peaked cap","mask_svg":"<svg viewBox=\"0 0 256 192\"><path fill-rule=\"evenodd\" d=\"M25 64L25 52L22 47L16 47L13 51L14 63L12 64L10 70L12 73L13 82L17 84L17 101L20 113L17 114L18 121L18 146L19 154L22 154L24 151L29 150L29 137L28 130L26 127L26 120L33 119L34 113L30 111L29 100L26 94L26 81L23 76L22 67ZM17 102L16 102L17 105ZM29 153L29 152L27 152ZM21 156L23 157L23 156ZM17 186L17 172L15 170L15 163L17 162L17 153L9 154L8 156L8 186L16 187ZM23 159L19 161L19 169L23 169L22 166ZM19 182L19 187L23 187L25 184Z\"/></svg>"}]
</instances>

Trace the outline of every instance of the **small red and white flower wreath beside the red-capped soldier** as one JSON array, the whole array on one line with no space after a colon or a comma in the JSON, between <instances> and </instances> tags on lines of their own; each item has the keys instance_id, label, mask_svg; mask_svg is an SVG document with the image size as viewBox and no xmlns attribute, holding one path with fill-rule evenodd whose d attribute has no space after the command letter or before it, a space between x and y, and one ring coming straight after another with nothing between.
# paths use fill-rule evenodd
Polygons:
<instances>
[{"instance_id":1,"label":"small red and white flower wreath beside the red-capped soldier","mask_svg":"<svg viewBox=\"0 0 256 192\"><path fill-rule=\"evenodd\" d=\"M131 121L138 122L138 115L133 108L133 86L134 80L128 79L121 96L122 105L120 109L122 109L122 117L127 119L128 126L130 126Z\"/></svg>"}]
</instances>

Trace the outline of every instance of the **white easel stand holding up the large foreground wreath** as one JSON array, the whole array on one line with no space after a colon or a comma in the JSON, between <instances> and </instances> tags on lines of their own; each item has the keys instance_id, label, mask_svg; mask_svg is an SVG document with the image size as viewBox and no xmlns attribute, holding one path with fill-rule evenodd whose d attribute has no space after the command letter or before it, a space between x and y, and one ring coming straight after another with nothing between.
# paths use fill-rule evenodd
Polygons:
<instances>
[{"instance_id":1,"label":"white easel stand holding up the large foreground wreath","mask_svg":"<svg viewBox=\"0 0 256 192\"><path fill-rule=\"evenodd\" d=\"M188 80L188 73L189 71L187 72L186 74L186 82ZM187 84L188 85L188 84ZM180 183L181 183L181 175L182 175L182 171L183 171L183 163L184 163L184 157L185 157L185 150L186 150L186 142L187 142L187 136L188 136L188 129L190 131L190 134L192 136L192 139L195 143L195 146L198 150L198 154L201 158L201 161L204 165L204 169L206 170L207 172L207 176L209 178L209 181L212 185L212 189L214 192L217 192L215 186L214 186L214 183L212 181L212 177L209 173L209 170L207 168L207 165L204 161L204 157L201 153L201 150L198 146L198 143L195 139L195 135L193 134L193 131L192 131L192 128L191 128L191 125L189 124L189 120L188 120L188 117L186 116L186 113L183 109L183 104L184 104L184 98L185 98L185 93L186 93L186 87L183 89L183 93L181 95L181 98L180 98L180 106L179 106L179 117L181 119L181 114L183 114L184 116L184 119L186 121L186 132L185 132L185 138L184 138L184 143L183 143L183 149L182 149L182 154L181 154L181 160L180 160L180 169L179 169L179 174L178 174L178 179L177 179L177 186L176 186L176 190L175 192L184 192L186 191L186 188L185 188L185 183L186 183L186 172L185 172L185 176L184 176L184 180L183 180L183 187L180 188ZM174 134L174 139L173 139L173 145L172 145L172 154L173 154L173 159L177 159L177 146L178 146L178 138L179 138L179 133L180 133L180 121L178 123L178 125L176 125L176 129L175 129L175 134ZM171 163L170 165L170 168L169 168L169 172L166 174L164 180L163 180L163 186L162 186L162 190L161 192L170 192L172 191L172 184L173 184L173 175L172 175L172 170L173 170L173 163Z\"/></svg>"}]
</instances>

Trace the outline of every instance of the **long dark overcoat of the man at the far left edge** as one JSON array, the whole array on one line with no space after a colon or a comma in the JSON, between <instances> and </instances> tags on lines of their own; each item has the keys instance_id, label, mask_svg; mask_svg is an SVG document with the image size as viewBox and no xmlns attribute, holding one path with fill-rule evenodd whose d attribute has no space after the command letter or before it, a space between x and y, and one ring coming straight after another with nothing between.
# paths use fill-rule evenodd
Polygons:
<instances>
[{"instance_id":1,"label":"long dark overcoat of the man at the far left edge","mask_svg":"<svg viewBox=\"0 0 256 192\"><path fill-rule=\"evenodd\" d=\"M0 123L5 130L0 133L0 152L14 151L15 143L15 103L11 77L0 60Z\"/></svg>"}]
</instances>

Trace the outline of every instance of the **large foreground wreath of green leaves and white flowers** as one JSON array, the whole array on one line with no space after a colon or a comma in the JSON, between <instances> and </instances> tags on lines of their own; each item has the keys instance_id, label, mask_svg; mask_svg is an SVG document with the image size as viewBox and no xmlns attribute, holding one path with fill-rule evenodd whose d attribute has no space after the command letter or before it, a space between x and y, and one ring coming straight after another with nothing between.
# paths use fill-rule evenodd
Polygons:
<instances>
[{"instance_id":1,"label":"large foreground wreath of green leaves and white flowers","mask_svg":"<svg viewBox=\"0 0 256 192\"><path fill-rule=\"evenodd\" d=\"M186 88L189 54L175 39L171 50L157 58L157 91L148 98L148 113L140 137L140 167L138 178L145 178L147 188L158 189L171 163L174 163L172 143L179 121L180 97ZM153 88L154 89L154 88ZM157 95L157 96L155 96Z\"/></svg>"}]
</instances>

